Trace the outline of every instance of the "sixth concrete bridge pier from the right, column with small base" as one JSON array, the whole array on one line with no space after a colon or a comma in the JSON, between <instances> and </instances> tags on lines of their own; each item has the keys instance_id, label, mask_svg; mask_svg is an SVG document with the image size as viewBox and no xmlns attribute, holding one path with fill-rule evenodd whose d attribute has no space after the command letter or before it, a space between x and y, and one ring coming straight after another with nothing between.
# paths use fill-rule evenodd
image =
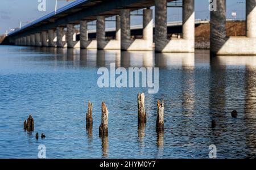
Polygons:
<instances>
[{"instance_id":1,"label":"sixth concrete bridge pier from the right, column with small base","mask_svg":"<svg viewBox=\"0 0 256 170\"><path fill-rule=\"evenodd\" d=\"M74 39L76 39L76 33L73 24L67 24L66 39L68 48L80 48L80 43L78 43L79 41L74 41Z\"/></svg>"}]
</instances>

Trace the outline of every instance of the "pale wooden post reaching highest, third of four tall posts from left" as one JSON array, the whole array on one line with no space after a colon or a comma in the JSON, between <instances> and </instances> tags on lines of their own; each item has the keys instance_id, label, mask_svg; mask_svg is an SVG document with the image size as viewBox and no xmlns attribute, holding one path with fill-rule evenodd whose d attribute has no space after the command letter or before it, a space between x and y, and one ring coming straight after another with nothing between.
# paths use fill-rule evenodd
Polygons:
<instances>
[{"instance_id":1,"label":"pale wooden post reaching highest, third of four tall posts from left","mask_svg":"<svg viewBox=\"0 0 256 170\"><path fill-rule=\"evenodd\" d=\"M138 94L138 124L146 124L147 118L146 118L146 111L144 107L144 100L145 95Z\"/></svg>"}]
</instances>

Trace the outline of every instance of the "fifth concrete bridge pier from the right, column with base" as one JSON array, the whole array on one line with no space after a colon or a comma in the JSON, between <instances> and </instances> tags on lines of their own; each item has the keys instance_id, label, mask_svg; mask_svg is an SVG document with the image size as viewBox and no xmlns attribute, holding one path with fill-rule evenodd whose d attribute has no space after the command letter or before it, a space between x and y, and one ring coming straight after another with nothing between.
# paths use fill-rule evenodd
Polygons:
<instances>
[{"instance_id":1,"label":"fifth concrete bridge pier from the right, column with base","mask_svg":"<svg viewBox=\"0 0 256 170\"><path fill-rule=\"evenodd\" d=\"M96 40L88 40L87 21L80 21L80 48L81 49L97 49Z\"/></svg>"}]
</instances>

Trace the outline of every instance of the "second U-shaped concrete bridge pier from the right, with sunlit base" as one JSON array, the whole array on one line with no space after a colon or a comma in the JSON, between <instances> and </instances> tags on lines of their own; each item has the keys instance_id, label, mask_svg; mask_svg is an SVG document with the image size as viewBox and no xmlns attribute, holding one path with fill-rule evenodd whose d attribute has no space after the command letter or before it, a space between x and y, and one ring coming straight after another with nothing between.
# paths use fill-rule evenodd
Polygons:
<instances>
[{"instance_id":1,"label":"second U-shaped concrete bridge pier from the right, with sunlit base","mask_svg":"<svg viewBox=\"0 0 256 170\"><path fill-rule=\"evenodd\" d=\"M167 1L155 0L155 51L195 52L195 2L183 0L183 37L167 39Z\"/></svg>"}]
</instances>

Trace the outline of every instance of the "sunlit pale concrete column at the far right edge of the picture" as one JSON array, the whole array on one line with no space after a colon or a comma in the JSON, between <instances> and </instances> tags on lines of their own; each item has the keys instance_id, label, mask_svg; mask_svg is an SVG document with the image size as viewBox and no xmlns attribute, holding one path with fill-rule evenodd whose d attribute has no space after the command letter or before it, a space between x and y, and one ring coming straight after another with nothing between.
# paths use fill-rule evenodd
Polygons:
<instances>
[{"instance_id":1,"label":"sunlit pale concrete column at the far right edge of the picture","mask_svg":"<svg viewBox=\"0 0 256 170\"><path fill-rule=\"evenodd\" d=\"M246 0L246 36L256 38L256 0Z\"/></svg>"}]
</instances>

